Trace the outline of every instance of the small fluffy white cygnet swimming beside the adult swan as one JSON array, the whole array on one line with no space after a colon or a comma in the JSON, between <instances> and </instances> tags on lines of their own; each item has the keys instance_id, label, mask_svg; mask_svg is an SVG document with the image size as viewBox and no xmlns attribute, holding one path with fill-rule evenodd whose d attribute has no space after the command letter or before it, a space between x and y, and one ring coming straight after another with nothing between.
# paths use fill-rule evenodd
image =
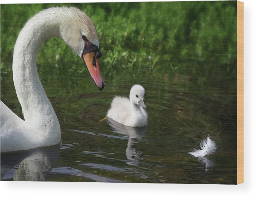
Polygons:
<instances>
[{"instance_id":1,"label":"small fluffy white cygnet swimming beside the adult swan","mask_svg":"<svg viewBox=\"0 0 256 197\"><path fill-rule=\"evenodd\" d=\"M141 85L131 87L129 98L116 96L107 111L107 117L130 127L147 125L146 105L144 104L145 89Z\"/></svg>"}]
</instances>

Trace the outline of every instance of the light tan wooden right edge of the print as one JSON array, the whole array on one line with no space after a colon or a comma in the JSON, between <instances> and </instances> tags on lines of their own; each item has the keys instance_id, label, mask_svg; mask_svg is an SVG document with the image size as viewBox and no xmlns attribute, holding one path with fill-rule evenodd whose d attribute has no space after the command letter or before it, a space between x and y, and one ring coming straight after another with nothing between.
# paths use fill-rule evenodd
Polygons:
<instances>
[{"instance_id":1,"label":"light tan wooden right edge of the print","mask_svg":"<svg viewBox=\"0 0 256 197\"><path fill-rule=\"evenodd\" d=\"M237 184L244 182L244 3L237 1Z\"/></svg>"}]
</instances>

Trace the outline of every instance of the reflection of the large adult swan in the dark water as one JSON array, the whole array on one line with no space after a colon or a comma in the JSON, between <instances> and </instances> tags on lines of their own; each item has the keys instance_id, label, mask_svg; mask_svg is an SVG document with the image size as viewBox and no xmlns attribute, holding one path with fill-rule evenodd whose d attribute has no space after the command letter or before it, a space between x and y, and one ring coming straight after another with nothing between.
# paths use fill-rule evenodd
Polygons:
<instances>
[{"instance_id":1,"label":"reflection of the large adult swan in the dark water","mask_svg":"<svg viewBox=\"0 0 256 197\"><path fill-rule=\"evenodd\" d=\"M45 181L55 166L60 145L1 153L1 180Z\"/></svg>"}]
</instances>

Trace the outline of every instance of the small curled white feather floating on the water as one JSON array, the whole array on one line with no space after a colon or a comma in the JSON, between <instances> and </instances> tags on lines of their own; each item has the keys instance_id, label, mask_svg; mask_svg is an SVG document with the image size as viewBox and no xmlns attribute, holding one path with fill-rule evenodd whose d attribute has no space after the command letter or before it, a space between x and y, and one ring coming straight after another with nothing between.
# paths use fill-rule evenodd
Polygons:
<instances>
[{"instance_id":1,"label":"small curled white feather floating on the water","mask_svg":"<svg viewBox=\"0 0 256 197\"><path fill-rule=\"evenodd\" d=\"M206 139L201 141L199 146L201 149L194 148L194 151L190 152L189 154L195 157L202 157L205 155L213 154L217 149L215 141L210 139L210 134L208 134Z\"/></svg>"}]
</instances>

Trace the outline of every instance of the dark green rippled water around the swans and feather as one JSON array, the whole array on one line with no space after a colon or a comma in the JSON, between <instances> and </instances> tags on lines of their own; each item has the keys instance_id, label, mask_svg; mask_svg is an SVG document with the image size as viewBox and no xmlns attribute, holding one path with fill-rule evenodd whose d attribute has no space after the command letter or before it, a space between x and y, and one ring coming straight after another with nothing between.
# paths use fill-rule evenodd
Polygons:
<instances>
[{"instance_id":1,"label":"dark green rippled water around the swans and feather","mask_svg":"<svg viewBox=\"0 0 256 197\"><path fill-rule=\"evenodd\" d=\"M106 88L101 92L87 71L51 69L39 69L39 76L61 125L61 144L1 154L1 180L236 184L232 77L168 71L155 77L144 70L108 77L102 65ZM22 117L12 75L1 77L1 100ZM146 90L147 128L98 124L112 98L128 96L134 83ZM208 133L217 152L190 156Z\"/></svg>"}]
</instances>

